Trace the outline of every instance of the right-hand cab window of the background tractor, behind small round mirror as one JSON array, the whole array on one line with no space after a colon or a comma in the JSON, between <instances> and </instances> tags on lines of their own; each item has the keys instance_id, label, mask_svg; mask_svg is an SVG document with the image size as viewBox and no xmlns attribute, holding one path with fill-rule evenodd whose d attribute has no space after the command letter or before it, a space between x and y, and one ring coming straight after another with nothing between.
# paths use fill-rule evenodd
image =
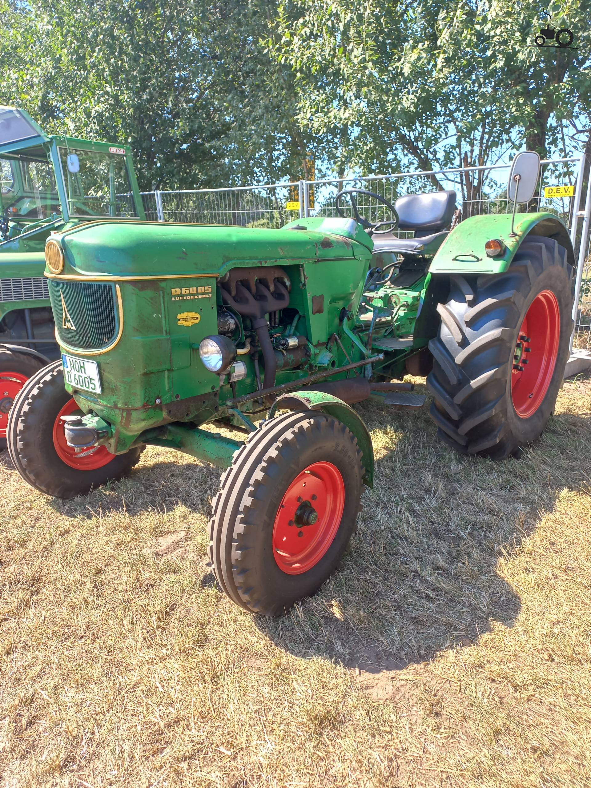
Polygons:
<instances>
[{"instance_id":1,"label":"right-hand cab window of the background tractor, behind small round mirror","mask_svg":"<svg viewBox=\"0 0 591 788\"><path fill-rule=\"evenodd\" d=\"M61 147L60 158L70 216L138 215L123 148L103 153Z\"/></svg>"}]
</instances>

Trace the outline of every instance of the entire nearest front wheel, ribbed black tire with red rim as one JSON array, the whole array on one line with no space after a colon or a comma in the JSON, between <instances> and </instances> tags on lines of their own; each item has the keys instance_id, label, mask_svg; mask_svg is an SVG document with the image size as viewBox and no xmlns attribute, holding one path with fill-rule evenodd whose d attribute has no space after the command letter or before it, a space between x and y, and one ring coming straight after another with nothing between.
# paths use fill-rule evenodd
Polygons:
<instances>
[{"instance_id":1,"label":"entire nearest front wheel, ribbed black tire with red rim","mask_svg":"<svg viewBox=\"0 0 591 788\"><path fill-rule=\"evenodd\" d=\"M362 452L344 424L297 411L266 422L221 477L210 560L241 607L276 615L317 591L355 530Z\"/></svg>"}]
</instances>

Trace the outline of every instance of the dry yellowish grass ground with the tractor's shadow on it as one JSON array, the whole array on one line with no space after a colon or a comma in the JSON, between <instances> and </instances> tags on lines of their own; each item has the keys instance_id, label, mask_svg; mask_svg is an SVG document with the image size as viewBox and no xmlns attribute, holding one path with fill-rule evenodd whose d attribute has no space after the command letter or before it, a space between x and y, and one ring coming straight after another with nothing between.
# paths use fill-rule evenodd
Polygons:
<instances>
[{"instance_id":1,"label":"dry yellowish grass ground with the tractor's shadow on it","mask_svg":"<svg viewBox=\"0 0 591 788\"><path fill-rule=\"evenodd\" d=\"M591 383L502 464L361 410L359 533L273 621L207 567L216 470L151 448L60 503L3 455L2 788L591 785Z\"/></svg>"}]
</instances>

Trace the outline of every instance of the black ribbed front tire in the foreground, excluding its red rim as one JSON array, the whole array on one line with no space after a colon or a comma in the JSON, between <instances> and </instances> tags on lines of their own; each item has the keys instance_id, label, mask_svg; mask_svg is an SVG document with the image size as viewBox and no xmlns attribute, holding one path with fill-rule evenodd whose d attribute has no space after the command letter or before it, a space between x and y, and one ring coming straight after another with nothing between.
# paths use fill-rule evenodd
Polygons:
<instances>
[{"instance_id":1,"label":"black ribbed front tire in the foreground, excluding its red rim","mask_svg":"<svg viewBox=\"0 0 591 788\"><path fill-rule=\"evenodd\" d=\"M318 563L302 574L287 574L273 554L275 517L292 482L318 461L340 472L343 515ZM355 530L362 476L357 439L326 414L284 414L252 433L221 476L210 519L210 561L230 599L259 615L279 615L315 593L335 571Z\"/></svg>"}]
</instances>

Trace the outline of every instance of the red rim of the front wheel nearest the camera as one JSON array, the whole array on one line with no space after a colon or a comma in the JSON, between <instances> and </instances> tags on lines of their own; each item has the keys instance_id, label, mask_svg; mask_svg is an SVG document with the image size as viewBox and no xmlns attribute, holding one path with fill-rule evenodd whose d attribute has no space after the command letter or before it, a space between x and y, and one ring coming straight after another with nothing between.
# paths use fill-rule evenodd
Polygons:
<instances>
[{"instance_id":1,"label":"red rim of the front wheel nearest the camera","mask_svg":"<svg viewBox=\"0 0 591 788\"><path fill-rule=\"evenodd\" d=\"M273 525L273 556L286 574L314 567L333 543L344 510L344 481L333 463L312 463L286 490Z\"/></svg>"}]
</instances>

